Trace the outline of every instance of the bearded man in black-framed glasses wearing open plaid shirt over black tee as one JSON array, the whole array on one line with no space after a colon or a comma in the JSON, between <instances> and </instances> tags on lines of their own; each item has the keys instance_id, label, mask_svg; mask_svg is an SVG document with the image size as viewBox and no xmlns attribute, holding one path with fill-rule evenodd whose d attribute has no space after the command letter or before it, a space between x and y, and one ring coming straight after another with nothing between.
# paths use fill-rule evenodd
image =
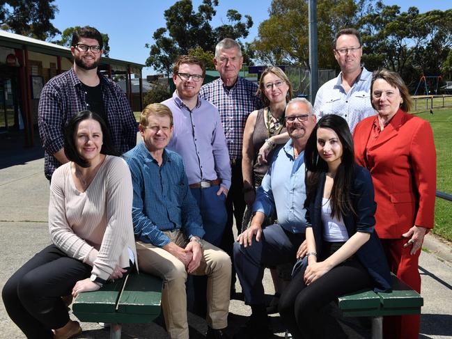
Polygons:
<instances>
[{"instance_id":1,"label":"bearded man in black-framed glasses wearing open plaid shirt over black tee","mask_svg":"<svg viewBox=\"0 0 452 339\"><path fill-rule=\"evenodd\" d=\"M118 152L127 152L137 143L137 121L123 90L98 72L102 56L102 35L90 26L72 34L72 68L50 79L39 100L38 126L45 149L45 176L68 162L63 151L63 128L79 111L93 111L104 118Z\"/></svg>"}]
</instances>

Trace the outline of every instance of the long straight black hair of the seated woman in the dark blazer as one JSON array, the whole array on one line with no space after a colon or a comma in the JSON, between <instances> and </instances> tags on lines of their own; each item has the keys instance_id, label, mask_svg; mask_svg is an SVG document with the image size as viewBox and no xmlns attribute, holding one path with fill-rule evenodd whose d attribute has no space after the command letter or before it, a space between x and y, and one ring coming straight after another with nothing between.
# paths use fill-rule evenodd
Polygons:
<instances>
[{"instance_id":1,"label":"long straight black hair of the seated woman in the dark blazer","mask_svg":"<svg viewBox=\"0 0 452 339\"><path fill-rule=\"evenodd\" d=\"M323 116L315 125L304 149L304 164L306 165L306 200L304 207L308 207L311 200L315 199L320 175L328 171L328 165L318 154L317 150L317 130L319 128L330 128L339 137L342 143L341 164L338 166L334 177L334 184L331 192L331 216L340 218L341 214L348 212L355 213L352 200L350 198L352 181L354 178L354 150L353 139L347 121L341 116L329 114Z\"/></svg>"}]
</instances>

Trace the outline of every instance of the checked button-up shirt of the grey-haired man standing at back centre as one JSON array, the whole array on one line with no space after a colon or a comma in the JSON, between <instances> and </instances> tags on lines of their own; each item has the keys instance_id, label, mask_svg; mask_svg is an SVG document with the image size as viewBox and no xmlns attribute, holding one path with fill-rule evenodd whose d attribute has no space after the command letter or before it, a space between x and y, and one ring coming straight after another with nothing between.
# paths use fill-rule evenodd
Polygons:
<instances>
[{"instance_id":1,"label":"checked button-up shirt of the grey-haired man standing at back centre","mask_svg":"<svg viewBox=\"0 0 452 339\"><path fill-rule=\"evenodd\" d=\"M229 157L242 157L243 132L249 113L259 109L262 104L256 91L258 86L253 82L238 77L230 90L226 89L221 78L205 84L199 94L217 107L221 116Z\"/></svg>"}]
</instances>

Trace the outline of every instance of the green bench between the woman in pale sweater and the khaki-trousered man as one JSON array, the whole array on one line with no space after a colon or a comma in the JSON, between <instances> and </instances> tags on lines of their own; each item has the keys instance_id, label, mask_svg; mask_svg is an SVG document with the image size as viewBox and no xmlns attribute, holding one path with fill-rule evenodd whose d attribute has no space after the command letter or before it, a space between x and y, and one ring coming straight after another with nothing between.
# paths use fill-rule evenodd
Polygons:
<instances>
[{"instance_id":1,"label":"green bench between the woman in pale sweater and the khaki-trousered man","mask_svg":"<svg viewBox=\"0 0 452 339\"><path fill-rule=\"evenodd\" d=\"M160 314L162 279L132 273L108 283L100 290L83 292L72 303L72 312L81 322L111 324L110 338L121 335L120 324L146 324Z\"/></svg>"}]
</instances>

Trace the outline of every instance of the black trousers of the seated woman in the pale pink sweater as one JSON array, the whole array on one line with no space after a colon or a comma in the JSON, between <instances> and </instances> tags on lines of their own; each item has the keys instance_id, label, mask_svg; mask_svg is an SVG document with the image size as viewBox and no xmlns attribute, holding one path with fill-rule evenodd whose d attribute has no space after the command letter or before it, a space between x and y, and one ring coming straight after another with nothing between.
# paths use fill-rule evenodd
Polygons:
<instances>
[{"instance_id":1,"label":"black trousers of the seated woman in the pale pink sweater","mask_svg":"<svg viewBox=\"0 0 452 339\"><path fill-rule=\"evenodd\" d=\"M52 339L52 329L69 321L61 297L72 292L93 268L70 258L55 245L47 246L11 276L1 296L11 320L26 338Z\"/></svg>"}]
</instances>

